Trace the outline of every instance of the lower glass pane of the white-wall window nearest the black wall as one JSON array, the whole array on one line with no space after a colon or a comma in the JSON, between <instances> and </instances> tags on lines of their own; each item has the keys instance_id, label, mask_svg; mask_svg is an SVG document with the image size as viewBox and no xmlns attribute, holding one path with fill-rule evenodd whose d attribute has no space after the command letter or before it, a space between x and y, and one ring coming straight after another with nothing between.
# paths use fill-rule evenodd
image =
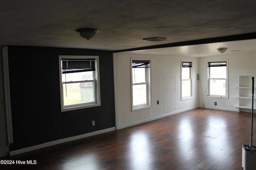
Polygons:
<instances>
[{"instance_id":1,"label":"lower glass pane of the white-wall window nearest the black wall","mask_svg":"<svg viewBox=\"0 0 256 170\"><path fill-rule=\"evenodd\" d=\"M132 101L133 106L147 103L147 88L146 84L132 86Z\"/></svg>"}]
</instances>

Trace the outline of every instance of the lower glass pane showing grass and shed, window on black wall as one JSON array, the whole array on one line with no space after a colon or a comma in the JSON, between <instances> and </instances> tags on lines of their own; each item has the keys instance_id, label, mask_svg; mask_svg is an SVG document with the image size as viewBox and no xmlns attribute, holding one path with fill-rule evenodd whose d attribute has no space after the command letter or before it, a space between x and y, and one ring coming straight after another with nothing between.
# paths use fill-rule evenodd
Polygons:
<instances>
[{"instance_id":1,"label":"lower glass pane showing grass and shed, window on black wall","mask_svg":"<svg viewBox=\"0 0 256 170\"><path fill-rule=\"evenodd\" d=\"M63 84L64 106L94 102L94 82Z\"/></svg>"}]
</instances>

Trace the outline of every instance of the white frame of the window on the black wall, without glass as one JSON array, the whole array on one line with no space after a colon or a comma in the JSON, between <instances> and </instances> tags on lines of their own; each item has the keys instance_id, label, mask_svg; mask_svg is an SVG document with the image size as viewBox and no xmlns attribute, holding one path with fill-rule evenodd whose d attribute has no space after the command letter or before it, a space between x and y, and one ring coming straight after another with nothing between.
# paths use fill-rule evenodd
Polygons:
<instances>
[{"instance_id":1,"label":"white frame of the window on the black wall, without glass","mask_svg":"<svg viewBox=\"0 0 256 170\"><path fill-rule=\"evenodd\" d=\"M94 79L93 80L82 80L82 81L73 81L73 82L62 82L62 68L61 61L62 59L95 59L95 71L94 71ZM84 109L88 107L96 107L100 106L100 70L99 70L99 57L98 56L81 56L81 55L59 55L59 73L60 73L60 104L61 111L70 111L76 109ZM88 102L83 104L73 104L69 106L64 106L64 98L63 98L63 84L68 83L80 83L80 82L93 82L94 84L94 102Z\"/></svg>"}]
</instances>

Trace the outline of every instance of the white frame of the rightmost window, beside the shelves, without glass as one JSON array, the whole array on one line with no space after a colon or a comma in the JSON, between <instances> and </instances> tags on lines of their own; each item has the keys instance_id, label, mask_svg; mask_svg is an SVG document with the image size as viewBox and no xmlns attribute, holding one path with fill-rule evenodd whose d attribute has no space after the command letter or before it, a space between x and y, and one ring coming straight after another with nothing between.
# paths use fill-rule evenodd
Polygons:
<instances>
[{"instance_id":1,"label":"white frame of the rightmost window, beside the shelves, without glass","mask_svg":"<svg viewBox=\"0 0 256 170\"><path fill-rule=\"evenodd\" d=\"M208 62L226 62L226 78L210 78L210 67L208 67ZM208 98L221 98L221 99L228 99L228 60L210 60L207 61L207 97ZM226 80L226 96L220 95L210 95L210 80Z\"/></svg>"}]
</instances>

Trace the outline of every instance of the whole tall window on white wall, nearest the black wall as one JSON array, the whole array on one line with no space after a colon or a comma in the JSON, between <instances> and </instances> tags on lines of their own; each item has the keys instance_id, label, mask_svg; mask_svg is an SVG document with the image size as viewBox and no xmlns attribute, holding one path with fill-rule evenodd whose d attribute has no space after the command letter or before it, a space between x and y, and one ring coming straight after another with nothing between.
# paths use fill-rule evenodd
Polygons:
<instances>
[{"instance_id":1,"label":"whole tall window on white wall, nearest the black wall","mask_svg":"<svg viewBox=\"0 0 256 170\"><path fill-rule=\"evenodd\" d=\"M132 110L150 106L150 60L132 60Z\"/></svg>"}]
</instances>

